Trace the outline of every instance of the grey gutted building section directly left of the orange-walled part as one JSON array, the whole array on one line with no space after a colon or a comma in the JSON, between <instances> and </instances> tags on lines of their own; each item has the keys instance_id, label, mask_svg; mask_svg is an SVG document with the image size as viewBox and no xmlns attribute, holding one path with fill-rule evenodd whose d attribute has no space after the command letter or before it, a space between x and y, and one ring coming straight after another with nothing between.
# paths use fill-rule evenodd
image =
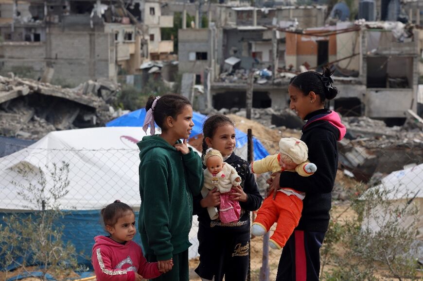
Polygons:
<instances>
[{"instance_id":1,"label":"grey gutted building section directly left of the orange-walled part","mask_svg":"<svg viewBox=\"0 0 423 281\"><path fill-rule=\"evenodd\" d=\"M287 28L320 26L324 24L326 12L326 6L257 8L218 5L216 9L216 20L209 28L179 30L178 33L179 72L194 73L197 83L210 79L205 91L209 92L216 109L245 106L249 69L265 68L265 77L274 72L275 66L285 65L285 34L273 31L269 26L276 23ZM276 64L275 60L278 61ZM231 75L227 75L229 73ZM280 79L276 84L266 80L259 79L254 85L253 107L275 104L285 107L287 95L281 95L281 87L285 89L283 93L287 93L287 83ZM227 95L233 99L227 99Z\"/></svg>"}]
</instances>

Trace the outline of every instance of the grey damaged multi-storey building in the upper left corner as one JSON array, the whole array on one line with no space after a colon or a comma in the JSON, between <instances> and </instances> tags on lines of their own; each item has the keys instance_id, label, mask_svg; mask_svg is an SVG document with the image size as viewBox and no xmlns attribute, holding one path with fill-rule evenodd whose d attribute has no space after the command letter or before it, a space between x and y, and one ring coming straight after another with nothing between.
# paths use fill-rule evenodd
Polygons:
<instances>
[{"instance_id":1,"label":"grey damaged multi-storey building in the upper left corner","mask_svg":"<svg viewBox=\"0 0 423 281\"><path fill-rule=\"evenodd\" d=\"M49 70L52 83L116 81L121 69L134 73L150 55L173 51L173 42L161 43L159 35L160 27L173 26L173 17L161 16L158 3L138 1L128 7L138 9L139 18L118 0L0 3L6 16L0 21L3 75L10 71L40 79ZM152 24L151 30L141 19Z\"/></svg>"}]
</instances>

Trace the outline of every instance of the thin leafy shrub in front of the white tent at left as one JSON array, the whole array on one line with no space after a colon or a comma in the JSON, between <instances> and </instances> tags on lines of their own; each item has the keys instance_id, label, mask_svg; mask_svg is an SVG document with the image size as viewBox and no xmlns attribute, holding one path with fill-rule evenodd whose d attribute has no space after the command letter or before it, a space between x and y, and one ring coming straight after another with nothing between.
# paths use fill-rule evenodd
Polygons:
<instances>
[{"instance_id":1,"label":"thin leafy shrub in front of the white tent at left","mask_svg":"<svg viewBox=\"0 0 423 281\"><path fill-rule=\"evenodd\" d=\"M28 262L37 264L41 280L46 280L47 273L66 277L77 268L75 248L63 242L64 226L60 223L65 213L60 210L59 199L69 192L69 164L47 168L49 181L39 167L24 164L14 168L25 181L12 183L32 212L3 217L4 224L0 225L0 265L6 269L20 266L27 271Z\"/></svg>"}]
</instances>

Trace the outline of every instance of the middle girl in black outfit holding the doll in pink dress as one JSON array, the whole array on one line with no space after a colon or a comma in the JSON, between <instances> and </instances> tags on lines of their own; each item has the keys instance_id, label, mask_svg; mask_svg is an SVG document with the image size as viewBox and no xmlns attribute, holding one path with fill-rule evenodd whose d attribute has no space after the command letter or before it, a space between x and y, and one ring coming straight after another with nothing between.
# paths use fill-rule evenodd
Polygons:
<instances>
[{"instance_id":1,"label":"middle girl in black outfit holding the doll in pink dress","mask_svg":"<svg viewBox=\"0 0 423 281\"><path fill-rule=\"evenodd\" d=\"M219 206L220 196L215 189L205 198L194 197L194 215L198 215L198 253L200 264L195 272L202 280L245 281L248 271L250 242L249 212L257 210L262 203L249 163L233 153L235 129L233 122L223 115L209 117L203 125L203 155L208 148L217 149L224 161L233 166L241 177L240 186L230 191L231 199L239 201L241 215L238 221L223 223L210 219L207 207ZM214 278L214 279L213 279Z\"/></svg>"}]
</instances>

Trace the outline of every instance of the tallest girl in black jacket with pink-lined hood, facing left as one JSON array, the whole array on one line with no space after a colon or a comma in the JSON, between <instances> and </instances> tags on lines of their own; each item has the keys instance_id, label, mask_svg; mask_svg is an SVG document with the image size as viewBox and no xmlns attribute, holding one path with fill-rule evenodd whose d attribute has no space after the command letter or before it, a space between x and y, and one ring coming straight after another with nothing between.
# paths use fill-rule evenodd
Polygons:
<instances>
[{"instance_id":1,"label":"tallest girl in black jacket with pink-lined hood, facing left","mask_svg":"<svg viewBox=\"0 0 423 281\"><path fill-rule=\"evenodd\" d=\"M291 79L288 87L290 108L307 120L301 140L307 144L308 158L317 165L310 177L297 173L275 173L271 191L280 186L305 192L298 227L282 250L277 281L315 281L319 279L320 247L329 226L332 189L338 165L337 141L346 132L339 116L326 108L326 99L334 99L337 89L332 86L331 71L301 73Z\"/></svg>"}]
</instances>

